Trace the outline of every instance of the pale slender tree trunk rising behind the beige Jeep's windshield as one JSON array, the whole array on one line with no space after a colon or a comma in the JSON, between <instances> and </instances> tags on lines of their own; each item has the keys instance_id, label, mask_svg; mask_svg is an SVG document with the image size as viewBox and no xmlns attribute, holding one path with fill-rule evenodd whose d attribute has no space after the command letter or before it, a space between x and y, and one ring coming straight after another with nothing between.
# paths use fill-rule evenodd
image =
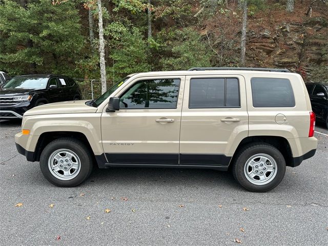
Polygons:
<instances>
[{"instance_id":1,"label":"pale slender tree trunk rising behind the beige Jeep's windshield","mask_svg":"<svg viewBox=\"0 0 328 246\"><path fill-rule=\"evenodd\" d=\"M106 84L106 65L105 65L105 43L104 43L104 27L103 27L103 9L101 9L101 0L97 0L98 5L98 27L99 27L99 61L100 61L100 80L101 94L107 91Z\"/></svg>"}]
</instances>

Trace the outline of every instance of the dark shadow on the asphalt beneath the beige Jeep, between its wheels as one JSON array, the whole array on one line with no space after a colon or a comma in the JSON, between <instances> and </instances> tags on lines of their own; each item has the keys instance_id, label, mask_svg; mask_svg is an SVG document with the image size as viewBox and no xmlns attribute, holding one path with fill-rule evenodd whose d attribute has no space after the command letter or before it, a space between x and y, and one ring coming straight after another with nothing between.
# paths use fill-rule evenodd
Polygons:
<instances>
[{"instance_id":1,"label":"dark shadow on the asphalt beneath the beige Jeep, between its wheels","mask_svg":"<svg viewBox=\"0 0 328 246\"><path fill-rule=\"evenodd\" d=\"M85 183L97 183L97 186L115 185L130 187L146 185L149 183L177 188L181 187L227 187L241 189L230 172L209 169L169 169L169 168L110 168L94 169Z\"/></svg>"}]
</instances>

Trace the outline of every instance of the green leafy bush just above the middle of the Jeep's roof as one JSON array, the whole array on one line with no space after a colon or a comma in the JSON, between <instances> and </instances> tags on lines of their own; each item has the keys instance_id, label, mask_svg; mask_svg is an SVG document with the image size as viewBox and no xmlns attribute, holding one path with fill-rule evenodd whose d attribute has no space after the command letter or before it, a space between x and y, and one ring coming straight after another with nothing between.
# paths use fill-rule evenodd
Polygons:
<instances>
[{"instance_id":1,"label":"green leafy bush just above the middle of the Jeep's roof","mask_svg":"<svg viewBox=\"0 0 328 246\"><path fill-rule=\"evenodd\" d=\"M191 67L210 67L214 53L192 28L161 32L163 40L160 65L163 70L185 70Z\"/></svg>"}]
</instances>

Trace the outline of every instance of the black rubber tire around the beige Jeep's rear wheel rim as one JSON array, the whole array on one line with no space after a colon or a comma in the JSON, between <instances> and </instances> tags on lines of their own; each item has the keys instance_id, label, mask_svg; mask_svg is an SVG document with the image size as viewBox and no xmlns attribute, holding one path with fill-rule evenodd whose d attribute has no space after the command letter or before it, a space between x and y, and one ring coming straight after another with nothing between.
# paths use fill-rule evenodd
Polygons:
<instances>
[{"instance_id":1,"label":"black rubber tire around the beige Jeep's rear wheel rim","mask_svg":"<svg viewBox=\"0 0 328 246\"><path fill-rule=\"evenodd\" d=\"M269 183L254 184L248 178L244 171L247 161L254 155L265 154L272 157L276 162L276 174ZM252 168L251 168L252 170ZM268 170L267 170L268 171ZM266 192L274 189L283 179L286 171L286 162L281 152L274 146L262 142L252 143L244 146L238 153L233 163L233 176L240 185L252 192ZM254 171L256 172L256 171ZM264 171L263 171L264 172ZM270 175L270 173L269 173ZM269 176L268 175L268 176ZM258 176L259 178L259 176ZM253 181L254 182L254 181ZM256 181L255 181L256 182Z\"/></svg>"}]
</instances>

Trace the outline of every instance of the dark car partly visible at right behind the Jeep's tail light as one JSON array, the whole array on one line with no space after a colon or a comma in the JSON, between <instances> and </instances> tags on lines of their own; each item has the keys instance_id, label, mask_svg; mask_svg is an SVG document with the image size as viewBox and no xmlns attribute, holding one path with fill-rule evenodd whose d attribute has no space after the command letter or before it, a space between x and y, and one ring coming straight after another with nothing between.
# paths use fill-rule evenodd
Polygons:
<instances>
[{"instance_id":1,"label":"dark car partly visible at right behind the Jeep's tail light","mask_svg":"<svg viewBox=\"0 0 328 246\"><path fill-rule=\"evenodd\" d=\"M328 84L308 83L305 85L317 120L324 122L328 128Z\"/></svg>"}]
</instances>

